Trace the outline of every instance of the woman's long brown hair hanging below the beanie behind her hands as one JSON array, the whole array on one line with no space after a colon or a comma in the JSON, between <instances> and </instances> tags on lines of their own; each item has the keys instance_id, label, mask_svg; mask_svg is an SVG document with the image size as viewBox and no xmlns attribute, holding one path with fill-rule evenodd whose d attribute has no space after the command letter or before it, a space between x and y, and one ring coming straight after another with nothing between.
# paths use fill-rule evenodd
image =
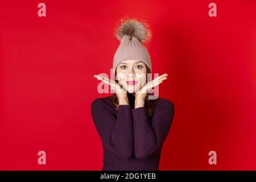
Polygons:
<instances>
[{"instance_id":1,"label":"woman's long brown hair hanging below the beanie behind her hands","mask_svg":"<svg viewBox=\"0 0 256 182\"><path fill-rule=\"evenodd\" d=\"M147 73L151 73L150 69L147 67L147 65L146 65L146 69L147 69ZM115 69L115 77L116 77L116 73L117 73L117 69ZM118 80L116 80L116 79L115 79L115 81L118 82ZM148 81L146 81L146 82L148 82ZM153 94L152 93L148 93L148 95L153 95ZM155 106L156 100L158 100L158 99L156 99L156 100L148 100L148 95L147 95L145 103L144 103L144 107L146 109L147 118L151 117L152 111L154 110L154 106ZM131 101L132 98L133 98L132 96L134 96L134 93L133 94L127 93L127 97L129 99L129 105L130 105L130 103L134 104L134 102ZM119 102L118 102L117 94L113 93L112 96L110 96L110 100L112 101L112 104L114 106L115 111L117 111L117 113L118 113ZM131 108L133 109L134 106L131 106Z\"/></svg>"}]
</instances>

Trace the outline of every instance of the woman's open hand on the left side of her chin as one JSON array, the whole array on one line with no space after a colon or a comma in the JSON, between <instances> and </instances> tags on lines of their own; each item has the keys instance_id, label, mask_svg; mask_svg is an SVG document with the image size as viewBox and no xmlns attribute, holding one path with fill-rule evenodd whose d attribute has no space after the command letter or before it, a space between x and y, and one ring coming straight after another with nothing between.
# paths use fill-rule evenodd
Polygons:
<instances>
[{"instance_id":1,"label":"woman's open hand on the left side of her chin","mask_svg":"<svg viewBox=\"0 0 256 182\"><path fill-rule=\"evenodd\" d=\"M98 80L103 81L105 84L110 85L110 90L113 90L118 97L118 100L122 100L123 98L127 98L127 92L121 88L121 86L114 80L110 80L109 78L101 75L94 75Z\"/></svg>"}]
</instances>

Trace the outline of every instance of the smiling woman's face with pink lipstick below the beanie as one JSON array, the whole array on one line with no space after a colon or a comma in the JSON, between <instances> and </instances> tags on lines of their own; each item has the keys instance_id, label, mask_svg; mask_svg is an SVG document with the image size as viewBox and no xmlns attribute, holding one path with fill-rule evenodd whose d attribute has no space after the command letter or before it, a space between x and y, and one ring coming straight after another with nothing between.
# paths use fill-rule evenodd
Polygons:
<instances>
[{"instance_id":1,"label":"smiling woman's face with pink lipstick below the beanie","mask_svg":"<svg viewBox=\"0 0 256 182\"><path fill-rule=\"evenodd\" d=\"M117 65L116 79L128 93L135 93L147 83L146 64L138 60L126 60ZM139 85L141 80L141 85Z\"/></svg>"}]
</instances>

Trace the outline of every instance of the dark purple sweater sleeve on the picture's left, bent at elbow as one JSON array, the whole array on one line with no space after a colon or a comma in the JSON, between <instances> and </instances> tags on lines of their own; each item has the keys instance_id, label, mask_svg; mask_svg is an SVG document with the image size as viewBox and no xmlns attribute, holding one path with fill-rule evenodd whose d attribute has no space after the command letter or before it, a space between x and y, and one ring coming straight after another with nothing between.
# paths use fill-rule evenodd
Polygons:
<instances>
[{"instance_id":1,"label":"dark purple sweater sleeve on the picture's left, bent at elbow","mask_svg":"<svg viewBox=\"0 0 256 182\"><path fill-rule=\"evenodd\" d=\"M116 116L112 107L97 98L92 102L91 114L102 143L120 158L133 155L133 118L130 105L119 105Z\"/></svg>"}]
</instances>

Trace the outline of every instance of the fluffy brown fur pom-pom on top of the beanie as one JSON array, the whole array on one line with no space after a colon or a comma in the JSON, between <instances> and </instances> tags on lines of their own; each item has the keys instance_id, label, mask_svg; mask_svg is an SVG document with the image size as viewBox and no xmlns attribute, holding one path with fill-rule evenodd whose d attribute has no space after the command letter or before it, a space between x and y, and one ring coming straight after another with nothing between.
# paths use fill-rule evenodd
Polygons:
<instances>
[{"instance_id":1,"label":"fluffy brown fur pom-pom on top of the beanie","mask_svg":"<svg viewBox=\"0 0 256 182\"><path fill-rule=\"evenodd\" d=\"M121 42L123 35L135 36L139 42L146 43L151 40L151 31L146 22L143 20L137 20L135 18L119 19L119 23L115 27L114 37Z\"/></svg>"}]
</instances>

